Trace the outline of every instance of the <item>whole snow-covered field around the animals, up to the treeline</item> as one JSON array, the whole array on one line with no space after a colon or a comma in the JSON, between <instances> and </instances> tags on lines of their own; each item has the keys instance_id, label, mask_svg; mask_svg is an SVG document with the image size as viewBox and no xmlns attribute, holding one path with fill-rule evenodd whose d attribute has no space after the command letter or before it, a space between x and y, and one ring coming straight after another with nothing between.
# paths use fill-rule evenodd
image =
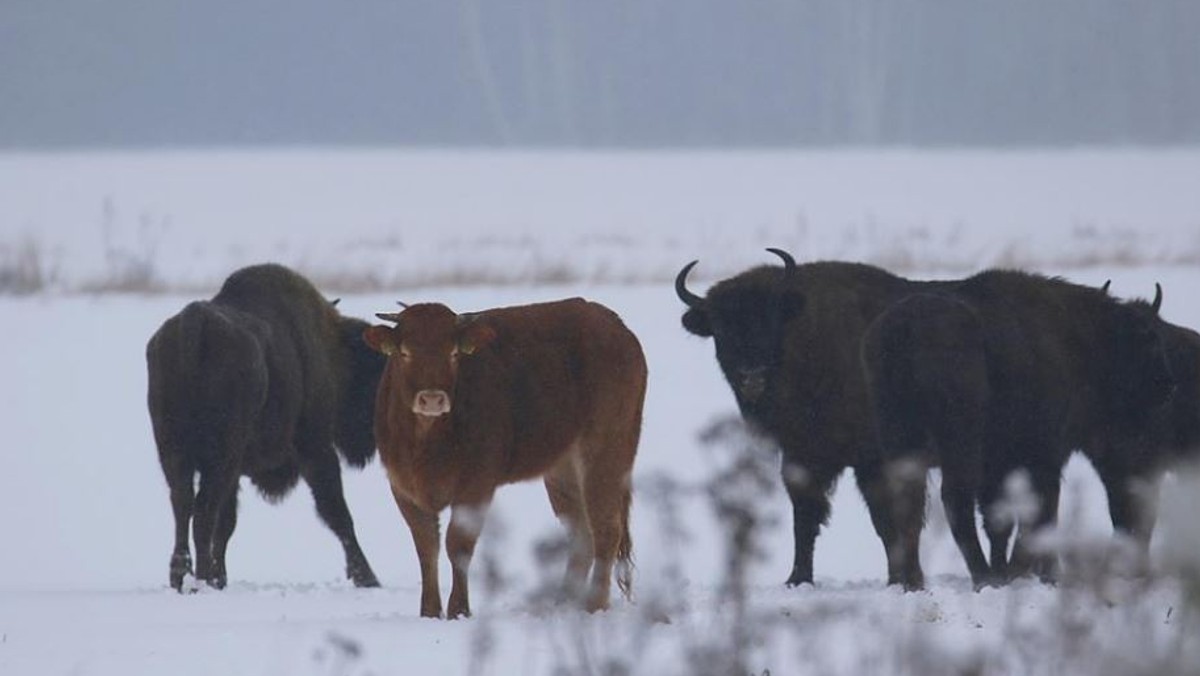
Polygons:
<instances>
[{"instance_id":1,"label":"whole snow-covered field around the animals, up to the treeline","mask_svg":"<svg viewBox=\"0 0 1200 676\"><path fill-rule=\"evenodd\" d=\"M734 412L712 345L679 328L670 279L688 261L702 259L697 289L772 262L764 246L914 276L1022 265L1111 279L1118 295L1160 281L1164 317L1200 327L1196 177L1193 151L0 155L0 270L31 247L50 277L41 293L0 297L0 674L703 674L732 672L720 668L730 656L756 675L1154 674L1200 659L1170 579L972 592L936 499L929 590L886 588L847 479L817 540L816 586L782 587L792 539L772 483L756 503L761 556L731 598L712 505L685 491L672 513L656 490L718 472L728 449L700 436ZM619 312L650 365L636 602L598 616L538 603L562 570L534 545L558 531L540 485L526 484L502 489L490 515L475 617L420 620L416 556L378 462L343 478L382 590L342 579L306 489L270 505L247 485L229 588L170 591L145 341L263 259L305 269L360 317L397 299L467 311L566 295ZM130 288L166 292L92 293L138 271ZM1073 461L1066 480L1066 530L1105 542L1091 468ZM1200 498L1181 492L1174 504L1194 515ZM739 628L751 638L739 642Z\"/></svg>"}]
</instances>

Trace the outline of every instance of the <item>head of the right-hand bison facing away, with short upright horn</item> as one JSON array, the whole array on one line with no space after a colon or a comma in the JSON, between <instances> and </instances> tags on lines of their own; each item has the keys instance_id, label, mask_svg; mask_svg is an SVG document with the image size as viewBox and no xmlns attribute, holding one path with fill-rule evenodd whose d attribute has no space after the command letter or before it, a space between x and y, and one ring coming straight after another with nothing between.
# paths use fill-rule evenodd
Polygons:
<instances>
[{"instance_id":1,"label":"head of the right-hand bison facing away, with short upright horn","mask_svg":"<svg viewBox=\"0 0 1200 676\"><path fill-rule=\"evenodd\" d=\"M1120 304L1112 328L1115 391L1127 413L1142 415L1163 403L1175 390L1165 336L1165 323L1158 317L1163 287L1154 285L1154 300L1130 300Z\"/></svg>"}]
</instances>

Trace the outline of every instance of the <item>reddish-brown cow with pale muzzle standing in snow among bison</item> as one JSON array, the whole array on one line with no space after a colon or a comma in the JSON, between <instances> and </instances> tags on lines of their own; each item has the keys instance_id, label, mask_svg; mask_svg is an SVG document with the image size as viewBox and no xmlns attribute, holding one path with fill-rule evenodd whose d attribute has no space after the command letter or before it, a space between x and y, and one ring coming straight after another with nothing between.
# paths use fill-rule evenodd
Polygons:
<instances>
[{"instance_id":1,"label":"reddish-brown cow with pale muzzle standing in snow among bison","mask_svg":"<svg viewBox=\"0 0 1200 676\"><path fill-rule=\"evenodd\" d=\"M448 616L467 616L467 570L492 495L538 477L571 538L566 588L604 610L619 563L628 598L646 358L620 318L578 298L470 315L422 304L378 317L396 325L364 335L389 357L376 438L416 544L421 616L442 616L438 513L450 507Z\"/></svg>"}]
</instances>

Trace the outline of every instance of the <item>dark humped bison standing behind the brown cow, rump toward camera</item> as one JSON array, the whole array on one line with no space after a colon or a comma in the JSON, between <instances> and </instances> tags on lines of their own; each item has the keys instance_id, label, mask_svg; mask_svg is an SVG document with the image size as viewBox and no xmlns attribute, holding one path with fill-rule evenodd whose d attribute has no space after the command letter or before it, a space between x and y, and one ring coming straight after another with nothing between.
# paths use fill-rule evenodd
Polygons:
<instances>
[{"instance_id":1,"label":"dark humped bison standing behind the brown cow, rump toward camera","mask_svg":"<svg viewBox=\"0 0 1200 676\"><path fill-rule=\"evenodd\" d=\"M371 412L384 360L362 342L368 325L269 264L238 270L212 300L188 304L150 339L150 419L175 513L172 587L192 572L193 516L196 576L224 587L241 475L272 502L304 477L342 543L349 579L379 585L354 534L335 451L355 467L374 455Z\"/></svg>"}]
</instances>

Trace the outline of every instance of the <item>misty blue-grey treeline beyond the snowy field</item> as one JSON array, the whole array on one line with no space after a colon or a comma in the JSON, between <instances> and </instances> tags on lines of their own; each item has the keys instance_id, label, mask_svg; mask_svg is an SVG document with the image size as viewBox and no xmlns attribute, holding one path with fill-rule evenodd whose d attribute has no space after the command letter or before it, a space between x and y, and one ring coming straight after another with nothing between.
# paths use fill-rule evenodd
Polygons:
<instances>
[{"instance_id":1,"label":"misty blue-grey treeline beyond the snowy field","mask_svg":"<svg viewBox=\"0 0 1200 676\"><path fill-rule=\"evenodd\" d=\"M4 0L0 146L1200 142L1195 0Z\"/></svg>"}]
</instances>

